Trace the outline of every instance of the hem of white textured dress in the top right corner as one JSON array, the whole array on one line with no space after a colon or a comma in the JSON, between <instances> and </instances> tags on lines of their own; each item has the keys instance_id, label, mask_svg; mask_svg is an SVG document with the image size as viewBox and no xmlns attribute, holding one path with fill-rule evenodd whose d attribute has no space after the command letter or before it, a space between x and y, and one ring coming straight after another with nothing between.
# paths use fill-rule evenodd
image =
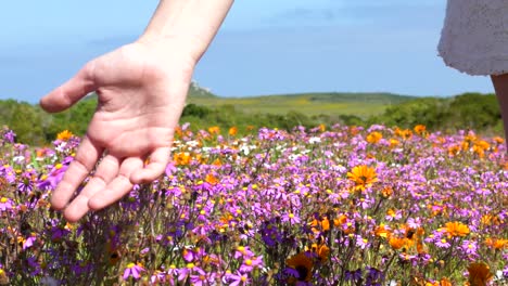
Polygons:
<instances>
[{"instance_id":1,"label":"hem of white textured dress in the top right corner","mask_svg":"<svg viewBox=\"0 0 508 286\"><path fill-rule=\"evenodd\" d=\"M508 0L448 0L437 50L462 73L507 74Z\"/></svg>"}]
</instances>

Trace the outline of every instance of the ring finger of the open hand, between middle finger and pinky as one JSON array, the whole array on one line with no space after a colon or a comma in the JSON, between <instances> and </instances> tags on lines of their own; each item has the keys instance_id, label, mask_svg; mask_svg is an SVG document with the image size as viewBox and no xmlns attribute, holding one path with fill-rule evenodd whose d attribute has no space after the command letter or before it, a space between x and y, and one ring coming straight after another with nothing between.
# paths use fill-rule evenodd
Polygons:
<instances>
[{"instance_id":1,"label":"ring finger of the open hand, between middle finger and pinky","mask_svg":"<svg viewBox=\"0 0 508 286\"><path fill-rule=\"evenodd\" d=\"M119 200L128 194L134 184L130 182L130 174L143 166L141 158L127 158L122 162L118 176L106 185L104 191L98 192L88 200L88 207L93 210L103 209Z\"/></svg>"}]
</instances>

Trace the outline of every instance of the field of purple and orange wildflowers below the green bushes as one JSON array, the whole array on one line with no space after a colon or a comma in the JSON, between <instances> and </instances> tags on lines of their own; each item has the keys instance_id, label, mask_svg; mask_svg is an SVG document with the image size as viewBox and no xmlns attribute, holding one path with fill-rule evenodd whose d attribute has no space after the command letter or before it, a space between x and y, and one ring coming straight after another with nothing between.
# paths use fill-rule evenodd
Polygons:
<instances>
[{"instance_id":1,"label":"field of purple and orange wildflowers below the green bushes","mask_svg":"<svg viewBox=\"0 0 508 286\"><path fill-rule=\"evenodd\" d=\"M371 126L177 130L165 174L67 223L79 139L0 130L0 285L505 285L504 140Z\"/></svg>"}]
</instances>

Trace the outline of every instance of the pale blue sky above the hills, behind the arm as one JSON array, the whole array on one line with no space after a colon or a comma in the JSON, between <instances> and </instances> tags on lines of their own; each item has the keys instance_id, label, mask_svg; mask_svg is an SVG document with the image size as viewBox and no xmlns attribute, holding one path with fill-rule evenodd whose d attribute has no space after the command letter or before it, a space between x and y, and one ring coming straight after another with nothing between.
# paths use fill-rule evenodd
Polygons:
<instances>
[{"instance_id":1,"label":"pale blue sky above the hills, behind the arm","mask_svg":"<svg viewBox=\"0 0 508 286\"><path fill-rule=\"evenodd\" d=\"M7 1L0 99L35 103L104 52L132 41L158 1ZM443 0L238 0L194 79L221 96L338 91L493 92L446 67Z\"/></svg>"}]
</instances>

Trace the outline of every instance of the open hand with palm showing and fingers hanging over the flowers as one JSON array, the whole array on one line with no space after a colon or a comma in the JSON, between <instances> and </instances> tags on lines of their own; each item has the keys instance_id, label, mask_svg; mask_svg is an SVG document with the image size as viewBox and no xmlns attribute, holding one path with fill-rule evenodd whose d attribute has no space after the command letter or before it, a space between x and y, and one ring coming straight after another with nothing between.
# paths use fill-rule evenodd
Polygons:
<instances>
[{"instance_id":1,"label":"open hand with palm showing and fingers hanging over the flowers","mask_svg":"<svg viewBox=\"0 0 508 286\"><path fill-rule=\"evenodd\" d=\"M89 210L117 202L134 184L164 172L195 63L178 44L138 41L89 62L41 99L42 108L54 113L89 92L99 95L87 134L52 194L53 208L78 221Z\"/></svg>"}]
</instances>

